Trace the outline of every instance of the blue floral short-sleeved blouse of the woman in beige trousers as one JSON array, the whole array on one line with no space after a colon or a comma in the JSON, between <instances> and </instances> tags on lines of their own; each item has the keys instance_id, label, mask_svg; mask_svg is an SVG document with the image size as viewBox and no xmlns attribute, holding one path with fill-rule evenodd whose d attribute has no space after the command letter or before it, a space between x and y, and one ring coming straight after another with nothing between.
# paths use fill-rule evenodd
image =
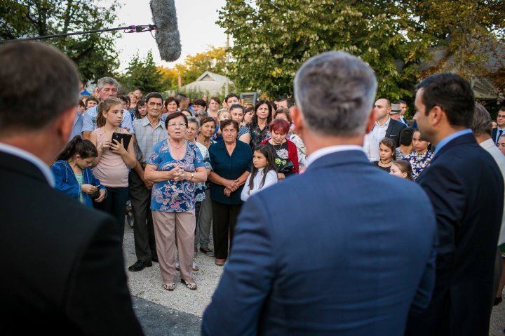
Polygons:
<instances>
[{"instance_id":1,"label":"blue floral short-sleeved blouse of the woman in beige trousers","mask_svg":"<svg viewBox=\"0 0 505 336\"><path fill-rule=\"evenodd\" d=\"M186 152L181 160L173 159L167 140L158 142L153 147L153 153L147 164L156 166L158 171L168 171L175 166L195 172L196 168L204 167L203 156L191 142L186 142ZM195 206L195 183L188 180L156 182L152 188L151 210L172 213L186 212Z\"/></svg>"}]
</instances>

